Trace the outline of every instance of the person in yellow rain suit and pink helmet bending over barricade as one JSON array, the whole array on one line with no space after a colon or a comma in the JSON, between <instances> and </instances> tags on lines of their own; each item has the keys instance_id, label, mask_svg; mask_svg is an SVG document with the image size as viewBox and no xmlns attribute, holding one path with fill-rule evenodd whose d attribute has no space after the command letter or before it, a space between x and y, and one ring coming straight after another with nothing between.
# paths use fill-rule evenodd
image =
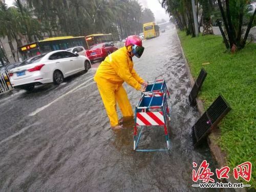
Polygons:
<instances>
[{"instance_id":1,"label":"person in yellow rain suit and pink helmet bending over barricade","mask_svg":"<svg viewBox=\"0 0 256 192\"><path fill-rule=\"evenodd\" d=\"M113 130L120 129L116 102L123 117L132 117L133 109L122 84L125 81L136 90L144 91L145 82L133 69L132 57L140 57L144 51L141 39L132 35L126 38L125 46L110 54L100 63L94 76L106 113Z\"/></svg>"}]
</instances>

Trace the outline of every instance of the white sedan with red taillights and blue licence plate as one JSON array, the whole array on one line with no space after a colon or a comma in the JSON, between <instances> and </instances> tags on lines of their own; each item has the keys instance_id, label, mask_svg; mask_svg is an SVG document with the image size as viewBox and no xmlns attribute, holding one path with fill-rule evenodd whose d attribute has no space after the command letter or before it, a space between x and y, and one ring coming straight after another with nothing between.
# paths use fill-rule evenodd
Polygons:
<instances>
[{"instance_id":1,"label":"white sedan with red taillights and blue licence plate","mask_svg":"<svg viewBox=\"0 0 256 192\"><path fill-rule=\"evenodd\" d=\"M31 91L39 84L60 84L64 78L90 68L91 62L86 56L58 50L24 60L11 69L9 75L14 88Z\"/></svg>"}]
</instances>

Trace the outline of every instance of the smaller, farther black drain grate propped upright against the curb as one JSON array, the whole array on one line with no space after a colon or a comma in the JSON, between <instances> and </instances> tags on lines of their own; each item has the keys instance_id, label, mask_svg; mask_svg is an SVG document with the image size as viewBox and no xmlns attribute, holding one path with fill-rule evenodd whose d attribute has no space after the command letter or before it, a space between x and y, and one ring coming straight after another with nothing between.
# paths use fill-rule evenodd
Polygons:
<instances>
[{"instance_id":1,"label":"smaller, farther black drain grate propped upright against the curb","mask_svg":"<svg viewBox=\"0 0 256 192\"><path fill-rule=\"evenodd\" d=\"M193 88L191 89L191 92L188 97L190 104L193 106L196 106L196 104L197 104L196 98L197 98L198 92L200 91L206 76L207 76L207 72L204 69L201 69L200 74L199 74Z\"/></svg>"}]
</instances>

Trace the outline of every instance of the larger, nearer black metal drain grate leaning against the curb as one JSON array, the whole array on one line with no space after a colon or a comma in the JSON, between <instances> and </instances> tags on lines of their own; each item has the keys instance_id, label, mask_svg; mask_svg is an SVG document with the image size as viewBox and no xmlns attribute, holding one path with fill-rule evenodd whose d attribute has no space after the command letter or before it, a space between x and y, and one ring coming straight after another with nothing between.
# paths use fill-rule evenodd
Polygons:
<instances>
[{"instance_id":1,"label":"larger, nearer black metal drain grate leaning against the curb","mask_svg":"<svg viewBox=\"0 0 256 192\"><path fill-rule=\"evenodd\" d=\"M192 127L194 145L198 145L203 138L209 135L210 130L215 127L230 110L230 106L220 95Z\"/></svg>"}]
</instances>

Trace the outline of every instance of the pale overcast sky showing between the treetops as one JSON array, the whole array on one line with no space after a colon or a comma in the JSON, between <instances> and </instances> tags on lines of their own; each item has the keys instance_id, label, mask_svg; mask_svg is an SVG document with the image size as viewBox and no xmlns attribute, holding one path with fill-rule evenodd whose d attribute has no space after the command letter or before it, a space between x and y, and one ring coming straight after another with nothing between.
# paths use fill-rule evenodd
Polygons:
<instances>
[{"instance_id":1,"label":"pale overcast sky showing between the treetops","mask_svg":"<svg viewBox=\"0 0 256 192\"><path fill-rule=\"evenodd\" d=\"M166 21L169 20L168 15L165 13L165 10L161 7L159 0L138 0L139 3L146 8L150 8L155 15L156 20L161 20L162 18ZM14 0L6 0L5 3L8 6L12 6Z\"/></svg>"}]
</instances>

